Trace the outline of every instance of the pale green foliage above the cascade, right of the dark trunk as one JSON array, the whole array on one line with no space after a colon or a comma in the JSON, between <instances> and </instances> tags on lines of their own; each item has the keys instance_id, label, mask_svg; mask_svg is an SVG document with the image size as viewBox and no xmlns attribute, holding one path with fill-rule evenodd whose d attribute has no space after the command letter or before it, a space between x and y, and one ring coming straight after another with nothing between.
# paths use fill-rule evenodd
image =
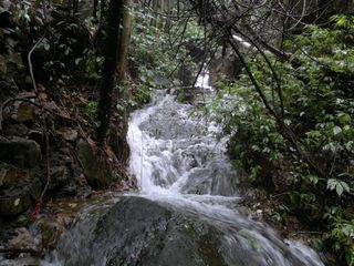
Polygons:
<instances>
[{"instance_id":1,"label":"pale green foliage above the cascade, right of the dark trunk","mask_svg":"<svg viewBox=\"0 0 354 266\"><path fill-rule=\"evenodd\" d=\"M139 92L133 101L146 102L152 89L192 85L197 66L188 44L198 41L200 28L192 21L156 18L148 8L133 13L131 72Z\"/></svg>"}]
</instances>

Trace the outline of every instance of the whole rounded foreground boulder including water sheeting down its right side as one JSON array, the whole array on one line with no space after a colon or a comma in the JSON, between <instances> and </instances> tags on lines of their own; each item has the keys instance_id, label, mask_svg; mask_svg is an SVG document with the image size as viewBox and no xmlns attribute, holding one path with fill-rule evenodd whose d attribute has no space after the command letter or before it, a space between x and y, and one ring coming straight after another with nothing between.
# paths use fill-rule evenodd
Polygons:
<instances>
[{"instance_id":1,"label":"whole rounded foreground boulder including water sheeting down its right side","mask_svg":"<svg viewBox=\"0 0 354 266\"><path fill-rule=\"evenodd\" d=\"M221 214L215 206L210 211L204 205L189 204L189 201L153 202L123 196L113 206L105 204L103 214L91 207L92 213L85 213L64 233L56 249L59 263L66 266L323 265L308 256L309 250L292 250L259 223Z\"/></svg>"}]
</instances>

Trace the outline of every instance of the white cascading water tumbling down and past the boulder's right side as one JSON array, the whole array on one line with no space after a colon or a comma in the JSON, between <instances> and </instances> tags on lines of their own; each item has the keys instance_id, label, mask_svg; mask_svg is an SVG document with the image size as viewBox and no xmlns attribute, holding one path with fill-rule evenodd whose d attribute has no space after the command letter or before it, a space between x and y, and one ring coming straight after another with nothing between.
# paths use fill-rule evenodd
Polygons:
<instances>
[{"instance_id":1,"label":"white cascading water tumbling down and past the boulder's right side","mask_svg":"<svg viewBox=\"0 0 354 266\"><path fill-rule=\"evenodd\" d=\"M210 91L208 82L205 72L196 86ZM227 139L217 141L216 131L194 114L192 106L168 94L133 113L131 170L142 196L217 227L227 265L323 265L311 248L283 243L271 228L235 207L241 200L240 176L225 155Z\"/></svg>"}]
</instances>

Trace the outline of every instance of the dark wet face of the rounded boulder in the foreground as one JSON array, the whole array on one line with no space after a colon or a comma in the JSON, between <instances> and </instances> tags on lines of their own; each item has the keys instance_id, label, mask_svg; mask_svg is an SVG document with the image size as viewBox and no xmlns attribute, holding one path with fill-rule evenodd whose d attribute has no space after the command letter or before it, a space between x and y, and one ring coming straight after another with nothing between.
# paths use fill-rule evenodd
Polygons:
<instances>
[{"instance_id":1,"label":"dark wet face of the rounded boulder in the foreground","mask_svg":"<svg viewBox=\"0 0 354 266\"><path fill-rule=\"evenodd\" d=\"M59 246L64 265L227 265L217 229L149 200L123 197L96 224L83 222ZM84 229L91 234L80 237ZM70 239L75 238L75 245ZM94 253L92 250L95 250ZM77 256L77 254L81 256Z\"/></svg>"}]
</instances>

